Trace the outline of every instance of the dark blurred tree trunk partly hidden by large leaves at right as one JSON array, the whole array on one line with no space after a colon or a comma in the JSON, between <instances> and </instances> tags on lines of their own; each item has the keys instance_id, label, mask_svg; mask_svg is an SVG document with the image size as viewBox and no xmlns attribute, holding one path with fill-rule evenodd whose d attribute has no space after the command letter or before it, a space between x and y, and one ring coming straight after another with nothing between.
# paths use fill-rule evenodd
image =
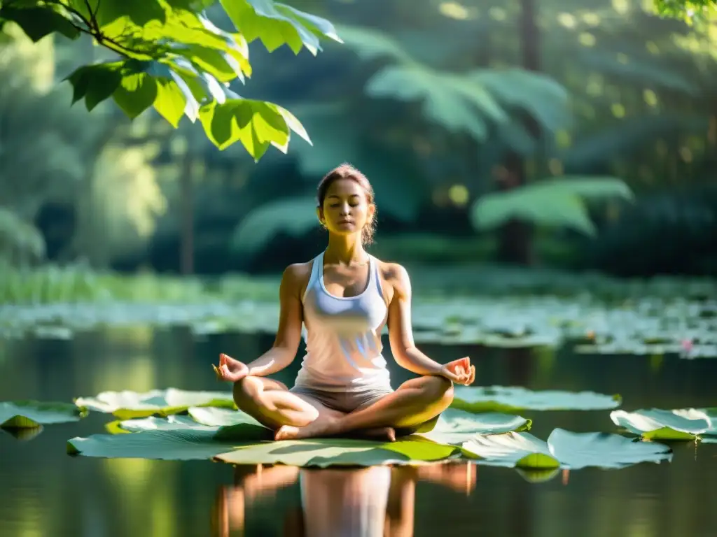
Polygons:
<instances>
[{"instance_id":1,"label":"dark blurred tree trunk partly hidden by large leaves at right","mask_svg":"<svg viewBox=\"0 0 717 537\"><path fill-rule=\"evenodd\" d=\"M523 69L540 71L540 34L536 24L535 0L521 0L521 18L518 25L521 33L521 59ZM538 140L541 132L532 117L524 115L523 125ZM505 178L501 190L520 188L526 184L526 168L521 155L509 153L505 160ZM505 224L498 233L498 260L504 263L530 265L533 262L531 248L532 227L523 221L513 220Z\"/></svg>"}]
</instances>

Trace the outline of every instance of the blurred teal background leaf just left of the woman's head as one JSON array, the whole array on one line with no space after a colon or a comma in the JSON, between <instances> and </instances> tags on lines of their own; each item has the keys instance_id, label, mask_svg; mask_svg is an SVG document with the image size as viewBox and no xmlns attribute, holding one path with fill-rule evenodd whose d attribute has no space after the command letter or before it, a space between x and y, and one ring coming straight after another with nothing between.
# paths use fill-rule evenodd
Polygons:
<instances>
[{"instance_id":1,"label":"blurred teal background leaf just left of the woman's head","mask_svg":"<svg viewBox=\"0 0 717 537\"><path fill-rule=\"evenodd\" d=\"M260 205L239 223L232 237L232 250L252 256L278 233L299 237L318 225L315 198L271 201Z\"/></svg>"}]
</instances>

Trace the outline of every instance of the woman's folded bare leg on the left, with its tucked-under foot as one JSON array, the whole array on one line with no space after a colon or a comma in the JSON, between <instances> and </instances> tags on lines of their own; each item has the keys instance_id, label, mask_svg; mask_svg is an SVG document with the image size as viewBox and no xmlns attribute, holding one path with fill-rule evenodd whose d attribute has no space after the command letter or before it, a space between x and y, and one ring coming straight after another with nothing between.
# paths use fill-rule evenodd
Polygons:
<instances>
[{"instance_id":1,"label":"woman's folded bare leg on the left, with its tucked-under foot","mask_svg":"<svg viewBox=\"0 0 717 537\"><path fill-rule=\"evenodd\" d=\"M282 427L305 427L313 422L336 420L343 412L321 404L313 397L295 394L285 384L267 377L244 377L234 383L234 402L265 427L278 431ZM361 437L395 440L391 427L367 427L353 431ZM277 438L280 440L280 438Z\"/></svg>"}]
</instances>

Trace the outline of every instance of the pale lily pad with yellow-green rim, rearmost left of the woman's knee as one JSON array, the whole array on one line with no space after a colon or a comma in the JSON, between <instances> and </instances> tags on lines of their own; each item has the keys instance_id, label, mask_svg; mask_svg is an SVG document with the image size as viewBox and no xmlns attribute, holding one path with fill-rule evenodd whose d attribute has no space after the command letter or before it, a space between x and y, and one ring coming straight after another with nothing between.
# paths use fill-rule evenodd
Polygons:
<instances>
[{"instance_id":1,"label":"pale lily pad with yellow-green rim, rearmost left of the woman's knee","mask_svg":"<svg viewBox=\"0 0 717 537\"><path fill-rule=\"evenodd\" d=\"M75 405L95 412L111 413L120 420L133 417L168 416L186 412L189 407L234 407L231 392L190 392L151 390L146 393L102 392L97 397L78 397Z\"/></svg>"}]
</instances>

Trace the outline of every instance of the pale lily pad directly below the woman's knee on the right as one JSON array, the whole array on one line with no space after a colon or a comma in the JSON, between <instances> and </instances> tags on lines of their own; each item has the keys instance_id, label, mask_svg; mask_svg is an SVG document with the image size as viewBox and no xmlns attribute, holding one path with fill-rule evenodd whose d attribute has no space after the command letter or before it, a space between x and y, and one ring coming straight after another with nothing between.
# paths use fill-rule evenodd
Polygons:
<instances>
[{"instance_id":1,"label":"pale lily pad directly below the woman's knee on the right","mask_svg":"<svg viewBox=\"0 0 717 537\"><path fill-rule=\"evenodd\" d=\"M533 422L521 416L485 412L473 414L455 408L442 412L435 427L421 435L442 444L460 445L476 435L529 430Z\"/></svg>"}]
</instances>

